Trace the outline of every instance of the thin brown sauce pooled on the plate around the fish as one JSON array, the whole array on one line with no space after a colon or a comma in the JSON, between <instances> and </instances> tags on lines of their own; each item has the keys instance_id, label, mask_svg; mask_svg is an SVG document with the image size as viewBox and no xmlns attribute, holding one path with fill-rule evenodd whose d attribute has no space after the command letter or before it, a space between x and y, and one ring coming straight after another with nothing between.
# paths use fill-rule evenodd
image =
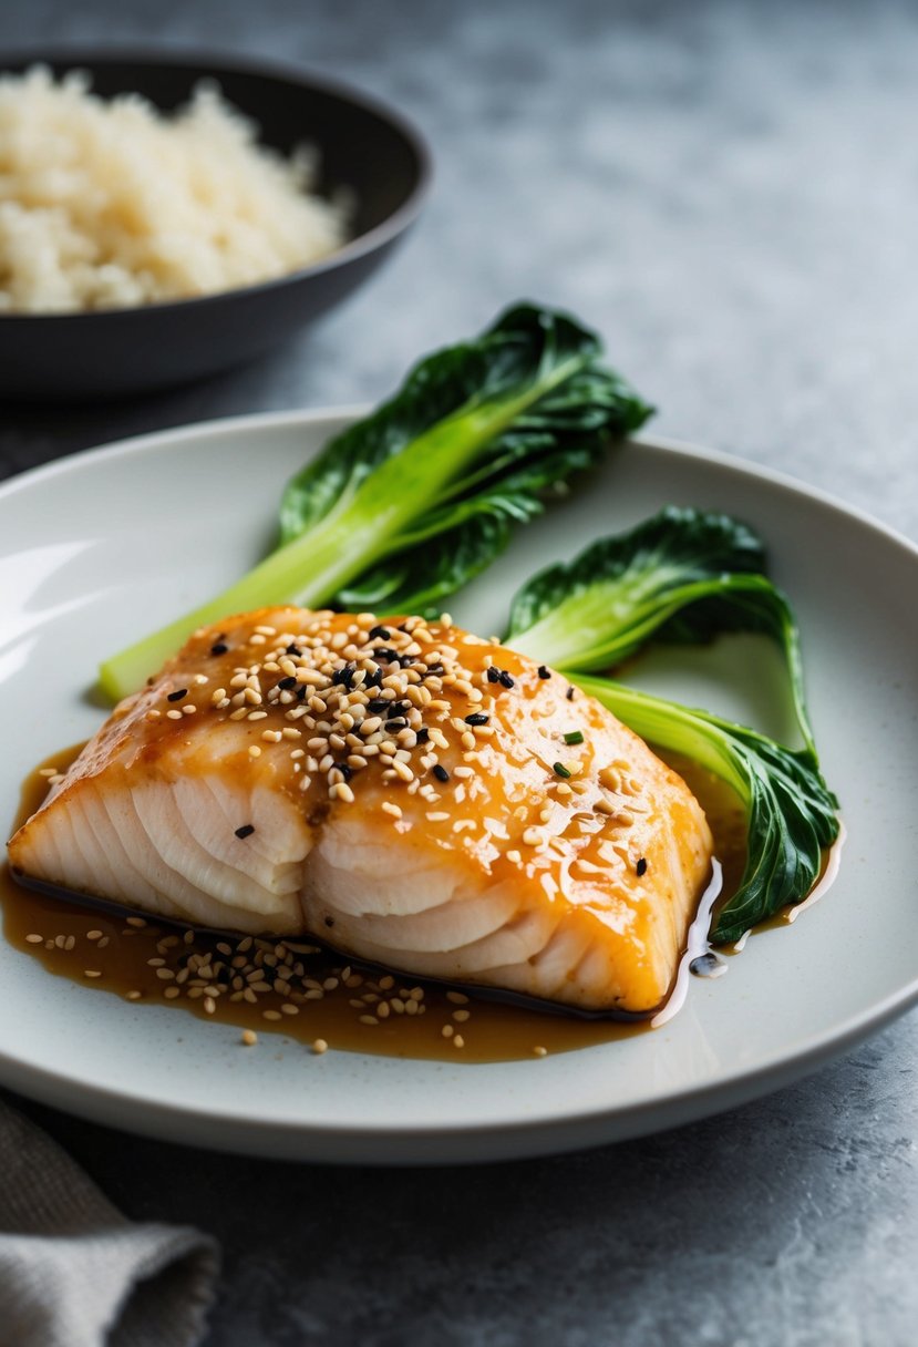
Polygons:
<instances>
[{"instance_id":1,"label":"thin brown sauce pooled on the plate around the fish","mask_svg":"<svg viewBox=\"0 0 918 1347\"><path fill-rule=\"evenodd\" d=\"M47 777L42 775L42 769L54 766L65 770L81 746L55 754L27 779L16 827L38 808L47 791ZM716 854L724 869L720 898L724 901L736 888L746 862L742 807L732 791L716 777L699 772L685 760L666 756L666 761L684 777L705 810ZM295 954L312 982L322 986L334 979L338 983L324 989L320 999L303 999L273 990L260 994L257 1005L245 999L229 1001L226 995L210 1002L203 995L188 999L184 994L168 999L164 993L175 982L160 977L163 968L167 973L180 970L188 954L213 954L214 959L222 959L223 954L217 952L218 943L229 939L234 946L237 938L195 932L187 940L180 927L167 923L147 920L135 924L143 921L140 917L128 923L124 915L23 888L15 882L7 866L0 870L0 894L7 940L38 959L52 974L124 998L132 993L133 1004L170 1005L205 1020L218 1020L257 1033L283 1033L285 1039L304 1044L324 1040L331 1049L386 1056L509 1061L568 1052L650 1030L650 1020L623 1022L604 1017L587 1018L556 1006L524 1002L521 998L489 997L479 991L467 993L464 989L458 991L400 974L386 978L382 970L362 967L328 950ZM90 931L101 935L89 940ZM42 942L30 942L30 935L40 935ZM264 942L268 958L276 943ZM67 944L71 948L66 948ZM296 950L304 942L291 940L287 944ZM151 966L151 959L157 960L159 967ZM345 986L341 975L349 968ZM98 977L89 978L87 973ZM386 986L392 978L394 986ZM384 979L382 985L380 979ZM397 1012L396 1008L386 1018L380 1018L376 1013L378 1004L393 999L405 1009ZM417 1010L408 1013L408 1002L412 999ZM207 1009L207 1002L213 1010ZM295 1013L291 1005L296 1005ZM361 1016L370 1016L378 1022L362 1022ZM448 1036L444 1036L444 1028Z\"/></svg>"}]
</instances>

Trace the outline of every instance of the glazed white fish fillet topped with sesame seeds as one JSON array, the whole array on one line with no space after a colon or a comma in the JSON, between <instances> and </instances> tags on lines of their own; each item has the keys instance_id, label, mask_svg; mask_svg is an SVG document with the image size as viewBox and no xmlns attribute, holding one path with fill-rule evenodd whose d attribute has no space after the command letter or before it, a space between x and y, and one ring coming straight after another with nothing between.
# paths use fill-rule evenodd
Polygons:
<instances>
[{"instance_id":1,"label":"glazed white fish fillet topped with sesame seeds","mask_svg":"<svg viewBox=\"0 0 918 1347\"><path fill-rule=\"evenodd\" d=\"M634 1013L711 854L684 781L559 674L448 620L292 607L197 632L9 843L178 921Z\"/></svg>"}]
</instances>

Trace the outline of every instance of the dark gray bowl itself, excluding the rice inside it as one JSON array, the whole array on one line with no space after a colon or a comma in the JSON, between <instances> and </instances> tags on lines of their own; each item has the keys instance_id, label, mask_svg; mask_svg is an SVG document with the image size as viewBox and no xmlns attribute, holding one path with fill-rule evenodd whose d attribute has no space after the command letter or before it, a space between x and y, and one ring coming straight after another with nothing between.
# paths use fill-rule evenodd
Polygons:
<instances>
[{"instance_id":1,"label":"dark gray bowl itself, excluding the rice inside it","mask_svg":"<svg viewBox=\"0 0 918 1347\"><path fill-rule=\"evenodd\" d=\"M87 314L0 315L0 397L86 400L188 383L284 342L345 299L384 260L421 209L429 155L419 133L373 98L295 69L171 53L17 53L0 70L40 62L87 70L104 97L136 90L157 108L186 102L201 79L253 117L261 139L289 152L308 141L322 159L319 191L347 187L350 241L279 280L201 299Z\"/></svg>"}]
</instances>

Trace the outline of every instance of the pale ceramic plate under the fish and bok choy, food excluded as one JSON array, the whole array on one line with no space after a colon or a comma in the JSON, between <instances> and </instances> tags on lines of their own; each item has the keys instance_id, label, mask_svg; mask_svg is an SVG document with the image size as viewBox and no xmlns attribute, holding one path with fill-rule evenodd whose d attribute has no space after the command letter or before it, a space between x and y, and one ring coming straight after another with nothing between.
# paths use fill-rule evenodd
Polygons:
<instances>
[{"instance_id":1,"label":"pale ceramic plate under the fish and bok choy, food excluded","mask_svg":"<svg viewBox=\"0 0 918 1347\"><path fill-rule=\"evenodd\" d=\"M101 719L98 659L222 589L272 537L281 484L349 414L246 418L82 454L0 489L0 818L35 762ZM641 1034L501 1065L401 1061L238 1030L52 978L0 943L0 1080L118 1127L337 1161L466 1161L587 1146L686 1122L802 1075L918 999L918 551L763 471L645 440L517 535L455 616L501 630L552 558L672 501L758 527L804 630L809 700L848 841L829 894L750 940ZM761 643L654 659L645 680L755 719ZM724 676L724 672L730 678ZM771 727L771 733L777 733ZM5 826L5 824L4 824ZM264 1039L269 1043L269 1039Z\"/></svg>"}]
</instances>

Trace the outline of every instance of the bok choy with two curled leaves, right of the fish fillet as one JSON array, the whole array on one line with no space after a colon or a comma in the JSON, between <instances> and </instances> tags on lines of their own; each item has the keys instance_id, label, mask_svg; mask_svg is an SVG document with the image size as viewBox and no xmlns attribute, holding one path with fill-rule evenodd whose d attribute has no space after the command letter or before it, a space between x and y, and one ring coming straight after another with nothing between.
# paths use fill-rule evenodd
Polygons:
<instances>
[{"instance_id":1,"label":"bok choy with two curled leaves, right of the fish fillet","mask_svg":"<svg viewBox=\"0 0 918 1347\"><path fill-rule=\"evenodd\" d=\"M739 888L712 939L727 943L787 904L801 902L839 835L837 801L818 769L804 702L800 640L785 595L756 568L759 539L723 515L669 508L631 532L548 567L517 594L506 644L559 667L635 734L727 781L747 822ZM707 711L591 678L651 637L707 640L761 630L785 651L805 746L774 742Z\"/></svg>"}]
</instances>

